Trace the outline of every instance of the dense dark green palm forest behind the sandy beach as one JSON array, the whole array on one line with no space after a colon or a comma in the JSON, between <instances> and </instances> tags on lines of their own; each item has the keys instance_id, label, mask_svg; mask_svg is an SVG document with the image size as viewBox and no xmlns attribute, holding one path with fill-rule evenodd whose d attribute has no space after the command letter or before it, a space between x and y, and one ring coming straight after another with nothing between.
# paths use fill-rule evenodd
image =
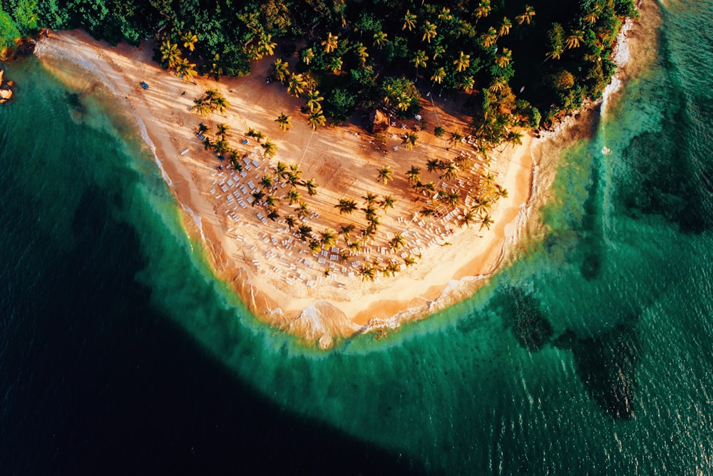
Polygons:
<instances>
[{"instance_id":1,"label":"dense dark green palm forest behind the sandy beach","mask_svg":"<svg viewBox=\"0 0 713 476\"><path fill-rule=\"evenodd\" d=\"M184 79L242 76L277 53L275 78L314 124L376 105L414 115L433 92L466 105L487 147L600 97L636 15L634 0L3 0L0 51L44 27L155 38Z\"/></svg>"}]
</instances>

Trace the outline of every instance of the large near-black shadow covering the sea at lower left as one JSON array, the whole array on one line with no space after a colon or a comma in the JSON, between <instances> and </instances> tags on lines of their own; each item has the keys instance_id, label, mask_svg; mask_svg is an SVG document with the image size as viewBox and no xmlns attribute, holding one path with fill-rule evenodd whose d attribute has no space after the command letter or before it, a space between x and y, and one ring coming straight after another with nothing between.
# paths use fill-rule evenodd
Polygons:
<instances>
[{"instance_id":1,"label":"large near-black shadow covering the sea at lower left","mask_svg":"<svg viewBox=\"0 0 713 476\"><path fill-rule=\"evenodd\" d=\"M30 232L7 244L48 265L3 278L20 283L0 366L4 474L423 472L265 401L155 311L135 230L105 195L83 193L68 251Z\"/></svg>"}]
</instances>

